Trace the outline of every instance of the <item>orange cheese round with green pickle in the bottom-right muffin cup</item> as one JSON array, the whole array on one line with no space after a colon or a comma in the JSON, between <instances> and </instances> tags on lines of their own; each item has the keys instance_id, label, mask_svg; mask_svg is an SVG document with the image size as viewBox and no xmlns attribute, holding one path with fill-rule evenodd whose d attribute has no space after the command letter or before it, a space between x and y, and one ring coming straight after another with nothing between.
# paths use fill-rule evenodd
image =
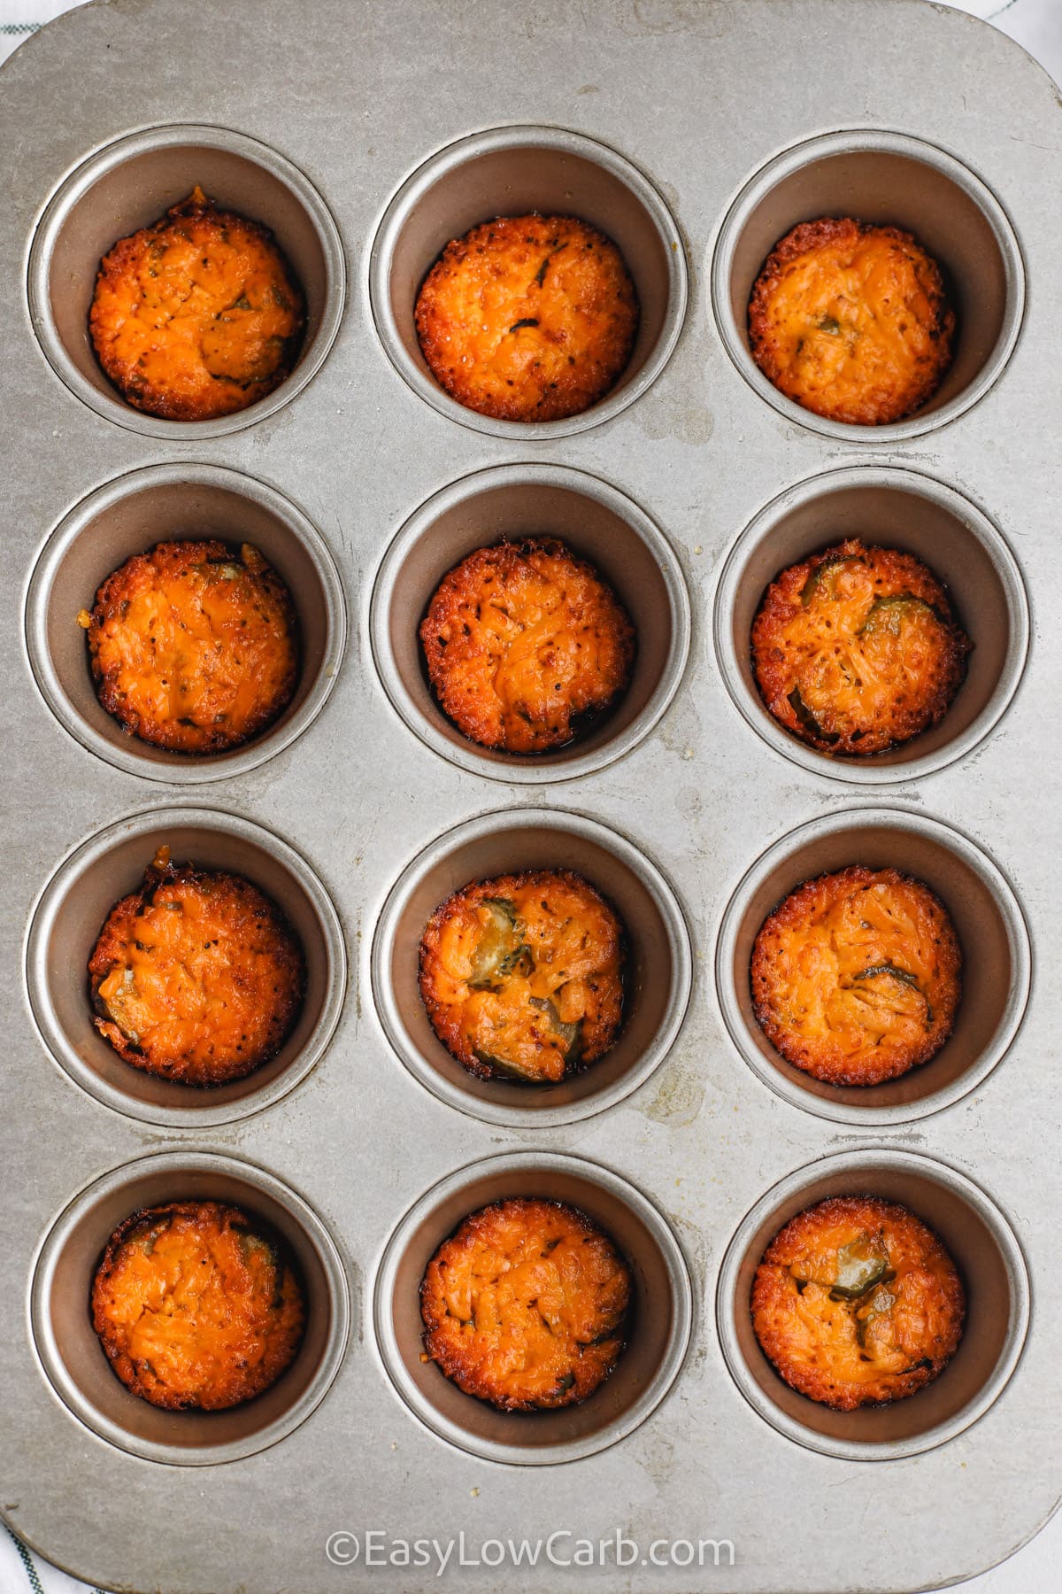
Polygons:
<instances>
[{"instance_id":1,"label":"orange cheese round with green pickle in the bottom-right muffin cup","mask_svg":"<svg viewBox=\"0 0 1062 1594\"><path fill-rule=\"evenodd\" d=\"M933 1231L874 1196L834 1196L791 1218L752 1288L764 1355L834 1411L916 1395L955 1353L965 1310Z\"/></svg>"}]
</instances>

